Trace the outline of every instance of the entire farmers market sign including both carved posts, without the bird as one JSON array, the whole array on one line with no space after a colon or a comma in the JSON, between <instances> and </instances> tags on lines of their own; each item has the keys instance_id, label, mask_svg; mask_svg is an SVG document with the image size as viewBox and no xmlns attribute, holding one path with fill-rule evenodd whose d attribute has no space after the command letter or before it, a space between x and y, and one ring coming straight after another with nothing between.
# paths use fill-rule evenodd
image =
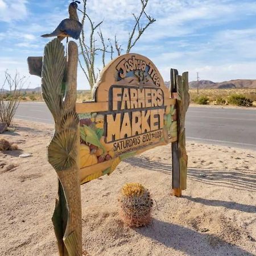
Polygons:
<instances>
[{"instance_id":1,"label":"entire farmers market sign including both carved posts, without the bird","mask_svg":"<svg viewBox=\"0 0 256 256\"><path fill-rule=\"evenodd\" d=\"M82 255L80 184L111 174L122 160L171 142L172 194L180 197L187 187L188 73L179 76L171 69L169 91L149 59L119 56L102 70L94 101L78 104L78 56L75 42L68 43L67 58L54 39L44 57L28 57L31 75L42 77L42 95L55 120L47 151L59 179L52 221L60 256Z\"/></svg>"}]
</instances>

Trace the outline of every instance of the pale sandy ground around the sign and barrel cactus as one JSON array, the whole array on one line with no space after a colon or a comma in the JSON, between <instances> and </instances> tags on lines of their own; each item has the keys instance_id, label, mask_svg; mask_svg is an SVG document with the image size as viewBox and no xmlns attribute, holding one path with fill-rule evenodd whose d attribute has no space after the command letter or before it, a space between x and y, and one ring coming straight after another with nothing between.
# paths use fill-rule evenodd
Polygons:
<instances>
[{"instance_id":1,"label":"pale sandy ground around the sign and barrel cactus","mask_svg":"<svg viewBox=\"0 0 256 256\"><path fill-rule=\"evenodd\" d=\"M57 179L46 159L53 126L17 119L15 126L0 135L21 149L0 152L0 255L57 255L51 223ZM193 142L187 151L181 198L170 196L170 145L81 186L83 247L90 255L256 255L256 151ZM32 156L19 158L22 152ZM145 228L119 220L117 197L127 182L142 183L154 199Z\"/></svg>"}]
</instances>

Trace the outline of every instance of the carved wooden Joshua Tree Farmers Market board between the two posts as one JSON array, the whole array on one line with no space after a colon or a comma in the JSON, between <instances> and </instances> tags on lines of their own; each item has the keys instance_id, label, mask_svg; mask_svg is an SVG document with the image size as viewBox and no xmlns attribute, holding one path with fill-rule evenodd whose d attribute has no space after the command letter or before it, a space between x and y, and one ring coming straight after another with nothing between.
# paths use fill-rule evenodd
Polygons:
<instances>
[{"instance_id":1,"label":"carved wooden Joshua Tree Farmers Market board between the two posts","mask_svg":"<svg viewBox=\"0 0 256 256\"><path fill-rule=\"evenodd\" d=\"M76 104L81 183L110 174L123 159L177 141L176 99L147 57L114 59L93 90L94 101Z\"/></svg>"}]
</instances>

